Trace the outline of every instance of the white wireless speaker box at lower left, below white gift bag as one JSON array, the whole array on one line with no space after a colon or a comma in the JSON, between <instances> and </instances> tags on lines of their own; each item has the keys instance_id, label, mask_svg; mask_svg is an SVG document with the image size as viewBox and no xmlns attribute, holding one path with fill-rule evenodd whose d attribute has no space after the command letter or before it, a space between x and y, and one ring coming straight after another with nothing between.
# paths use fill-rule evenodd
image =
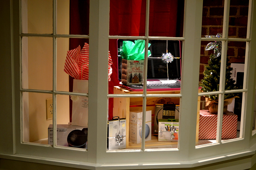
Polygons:
<instances>
[{"instance_id":1,"label":"white wireless speaker box at lower left, below white gift bag","mask_svg":"<svg viewBox=\"0 0 256 170\"><path fill-rule=\"evenodd\" d=\"M69 146L68 145L68 134L73 130L82 130L85 127L81 126L70 126L68 124L57 124L57 145L59 146ZM53 129L52 124L48 127L48 144L52 145Z\"/></svg>"}]
</instances>

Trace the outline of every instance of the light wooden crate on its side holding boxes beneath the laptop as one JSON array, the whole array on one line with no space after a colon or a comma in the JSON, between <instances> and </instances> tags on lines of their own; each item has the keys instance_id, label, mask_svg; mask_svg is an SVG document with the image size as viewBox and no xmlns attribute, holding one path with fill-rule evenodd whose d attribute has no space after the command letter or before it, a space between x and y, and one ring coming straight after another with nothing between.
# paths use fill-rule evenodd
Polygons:
<instances>
[{"instance_id":1,"label":"light wooden crate on its side holding boxes beneath the laptop","mask_svg":"<svg viewBox=\"0 0 256 170\"><path fill-rule=\"evenodd\" d=\"M201 90L198 89L198 92ZM142 94L142 92L129 91L126 88L120 86L114 86L114 94ZM148 91L148 94L179 94L180 91ZM152 113L152 125L154 124L155 117L155 104L166 104L167 102L173 102L174 104L180 103L180 98L174 97L148 97L147 98L147 110L151 110ZM130 111L135 111L142 109L142 98L114 98L113 116L119 116L120 118L126 118L126 148L140 147L140 144L129 143L129 113ZM136 107L135 107L136 106ZM199 110L200 110L200 97L197 99L197 118L196 118L196 142L198 142L198 130L199 130ZM154 127L152 126L152 129ZM153 133L153 130L151 130ZM177 142L162 142L158 141L157 137L152 136L150 141L145 142L145 146L157 146L157 145L170 145L170 143Z\"/></svg>"}]
</instances>

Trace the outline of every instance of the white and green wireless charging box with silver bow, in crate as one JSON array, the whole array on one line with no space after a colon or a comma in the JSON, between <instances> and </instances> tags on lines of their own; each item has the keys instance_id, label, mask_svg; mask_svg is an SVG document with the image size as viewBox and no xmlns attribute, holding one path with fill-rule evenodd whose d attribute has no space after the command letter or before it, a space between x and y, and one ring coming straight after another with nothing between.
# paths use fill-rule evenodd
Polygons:
<instances>
[{"instance_id":1,"label":"white and green wireless charging box with silver bow, in crate","mask_svg":"<svg viewBox=\"0 0 256 170\"><path fill-rule=\"evenodd\" d=\"M178 141L179 120L159 119L158 141Z\"/></svg>"}]
</instances>

